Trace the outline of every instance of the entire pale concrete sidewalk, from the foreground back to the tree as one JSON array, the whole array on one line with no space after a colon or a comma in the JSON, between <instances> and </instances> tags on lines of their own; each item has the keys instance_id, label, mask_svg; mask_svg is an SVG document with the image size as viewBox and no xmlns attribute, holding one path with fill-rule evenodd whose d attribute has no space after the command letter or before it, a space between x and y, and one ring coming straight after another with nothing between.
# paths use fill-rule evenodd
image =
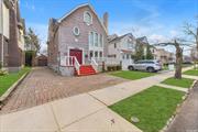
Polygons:
<instances>
[{"instance_id":1,"label":"entire pale concrete sidewalk, from the foreground back to the tree","mask_svg":"<svg viewBox=\"0 0 198 132\"><path fill-rule=\"evenodd\" d=\"M186 68L187 70L189 68ZM135 95L173 76L173 72L52 101L0 116L0 131L128 131L136 127L107 106Z\"/></svg>"}]
</instances>

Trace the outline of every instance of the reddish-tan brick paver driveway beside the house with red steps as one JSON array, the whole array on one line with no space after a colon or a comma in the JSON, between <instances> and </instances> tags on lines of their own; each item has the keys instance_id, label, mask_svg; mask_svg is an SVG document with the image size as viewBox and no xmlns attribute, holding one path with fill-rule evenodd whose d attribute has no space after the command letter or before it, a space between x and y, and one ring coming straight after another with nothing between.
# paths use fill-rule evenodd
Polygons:
<instances>
[{"instance_id":1,"label":"reddish-tan brick paver driveway beside the house with red steps","mask_svg":"<svg viewBox=\"0 0 198 132\"><path fill-rule=\"evenodd\" d=\"M12 92L0 113L22 110L123 81L127 80L106 74L62 77L46 67L36 67Z\"/></svg>"}]
</instances>

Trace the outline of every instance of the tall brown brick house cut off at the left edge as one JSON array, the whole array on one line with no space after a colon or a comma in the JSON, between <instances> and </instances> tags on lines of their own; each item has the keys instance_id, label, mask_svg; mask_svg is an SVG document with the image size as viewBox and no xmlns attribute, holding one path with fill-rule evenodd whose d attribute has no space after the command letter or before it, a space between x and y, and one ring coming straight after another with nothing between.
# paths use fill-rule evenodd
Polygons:
<instances>
[{"instance_id":1,"label":"tall brown brick house cut off at the left edge","mask_svg":"<svg viewBox=\"0 0 198 132\"><path fill-rule=\"evenodd\" d=\"M18 0L0 0L0 62L10 72L24 64L24 20Z\"/></svg>"}]
</instances>

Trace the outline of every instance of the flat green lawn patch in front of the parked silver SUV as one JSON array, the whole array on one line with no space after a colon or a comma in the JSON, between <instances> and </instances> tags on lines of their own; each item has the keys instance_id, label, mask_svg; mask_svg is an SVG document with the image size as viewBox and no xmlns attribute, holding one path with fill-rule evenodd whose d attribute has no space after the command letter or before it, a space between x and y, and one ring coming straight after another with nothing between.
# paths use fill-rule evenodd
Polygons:
<instances>
[{"instance_id":1,"label":"flat green lawn patch in front of the parked silver SUV","mask_svg":"<svg viewBox=\"0 0 198 132\"><path fill-rule=\"evenodd\" d=\"M117 76L117 77L121 77L124 79L131 79L131 80L135 80L135 79L141 79L144 77L150 77L153 75L156 75L155 73L146 73L146 72L130 72L130 70L120 70L120 72L113 72L110 73L110 75L112 76Z\"/></svg>"}]
</instances>

